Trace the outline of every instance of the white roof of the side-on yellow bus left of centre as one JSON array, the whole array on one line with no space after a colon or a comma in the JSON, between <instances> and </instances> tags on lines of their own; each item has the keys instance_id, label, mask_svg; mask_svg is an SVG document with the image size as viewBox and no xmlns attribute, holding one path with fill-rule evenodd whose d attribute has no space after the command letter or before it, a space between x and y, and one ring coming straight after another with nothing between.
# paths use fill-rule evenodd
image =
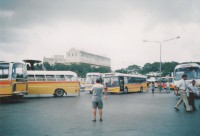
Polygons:
<instances>
[{"instance_id":1,"label":"white roof of the side-on yellow bus left of centre","mask_svg":"<svg viewBox=\"0 0 200 136\"><path fill-rule=\"evenodd\" d=\"M77 74L73 71L27 71L28 75L73 75Z\"/></svg>"}]
</instances>

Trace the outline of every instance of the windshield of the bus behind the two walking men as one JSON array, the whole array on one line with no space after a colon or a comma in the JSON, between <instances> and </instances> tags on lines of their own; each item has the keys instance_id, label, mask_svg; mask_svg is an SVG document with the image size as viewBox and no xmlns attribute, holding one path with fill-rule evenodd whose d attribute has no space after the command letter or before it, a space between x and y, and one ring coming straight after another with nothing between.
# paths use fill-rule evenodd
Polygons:
<instances>
[{"instance_id":1,"label":"windshield of the bus behind the two walking men","mask_svg":"<svg viewBox=\"0 0 200 136\"><path fill-rule=\"evenodd\" d=\"M185 67L176 69L174 80L181 80L183 74L187 75L188 80L200 79L200 69L198 67Z\"/></svg>"}]
</instances>

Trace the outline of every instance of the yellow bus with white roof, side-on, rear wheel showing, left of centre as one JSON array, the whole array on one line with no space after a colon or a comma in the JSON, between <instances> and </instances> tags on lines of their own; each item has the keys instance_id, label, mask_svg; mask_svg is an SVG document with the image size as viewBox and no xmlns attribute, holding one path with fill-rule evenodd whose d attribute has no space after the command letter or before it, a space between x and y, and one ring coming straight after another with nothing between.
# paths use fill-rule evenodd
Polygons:
<instances>
[{"instance_id":1,"label":"yellow bus with white roof, side-on, rear wheel showing, left of centre","mask_svg":"<svg viewBox=\"0 0 200 136\"><path fill-rule=\"evenodd\" d=\"M72 71L27 71L28 96L79 94L80 82Z\"/></svg>"}]
</instances>

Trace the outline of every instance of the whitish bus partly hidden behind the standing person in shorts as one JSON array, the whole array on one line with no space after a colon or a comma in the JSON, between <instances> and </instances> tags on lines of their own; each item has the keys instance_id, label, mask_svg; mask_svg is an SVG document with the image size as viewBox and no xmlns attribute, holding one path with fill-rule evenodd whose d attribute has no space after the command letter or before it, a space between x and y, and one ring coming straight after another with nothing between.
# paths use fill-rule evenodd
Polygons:
<instances>
[{"instance_id":1,"label":"whitish bus partly hidden behind the standing person in shorts","mask_svg":"<svg viewBox=\"0 0 200 136\"><path fill-rule=\"evenodd\" d=\"M97 79L102 79L102 73L87 73L85 80L85 91L92 93L92 85L96 83Z\"/></svg>"}]
</instances>

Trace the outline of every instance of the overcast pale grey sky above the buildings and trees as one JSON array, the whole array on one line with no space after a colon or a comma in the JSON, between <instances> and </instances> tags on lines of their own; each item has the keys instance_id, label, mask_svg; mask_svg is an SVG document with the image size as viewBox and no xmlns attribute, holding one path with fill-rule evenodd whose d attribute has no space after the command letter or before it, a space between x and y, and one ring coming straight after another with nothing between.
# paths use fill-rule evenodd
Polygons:
<instances>
[{"instance_id":1,"label":"overcast pale grey sky above the buildings and trees","mask_svg":"<svg viewBox=\"0 0 200 136\"><path fill-rule=\"evenodd\" d=\"M136 64L200 61L200 0L0 0L0 60L65 55L71 48Z\"/></svg>"}]
</instances>

